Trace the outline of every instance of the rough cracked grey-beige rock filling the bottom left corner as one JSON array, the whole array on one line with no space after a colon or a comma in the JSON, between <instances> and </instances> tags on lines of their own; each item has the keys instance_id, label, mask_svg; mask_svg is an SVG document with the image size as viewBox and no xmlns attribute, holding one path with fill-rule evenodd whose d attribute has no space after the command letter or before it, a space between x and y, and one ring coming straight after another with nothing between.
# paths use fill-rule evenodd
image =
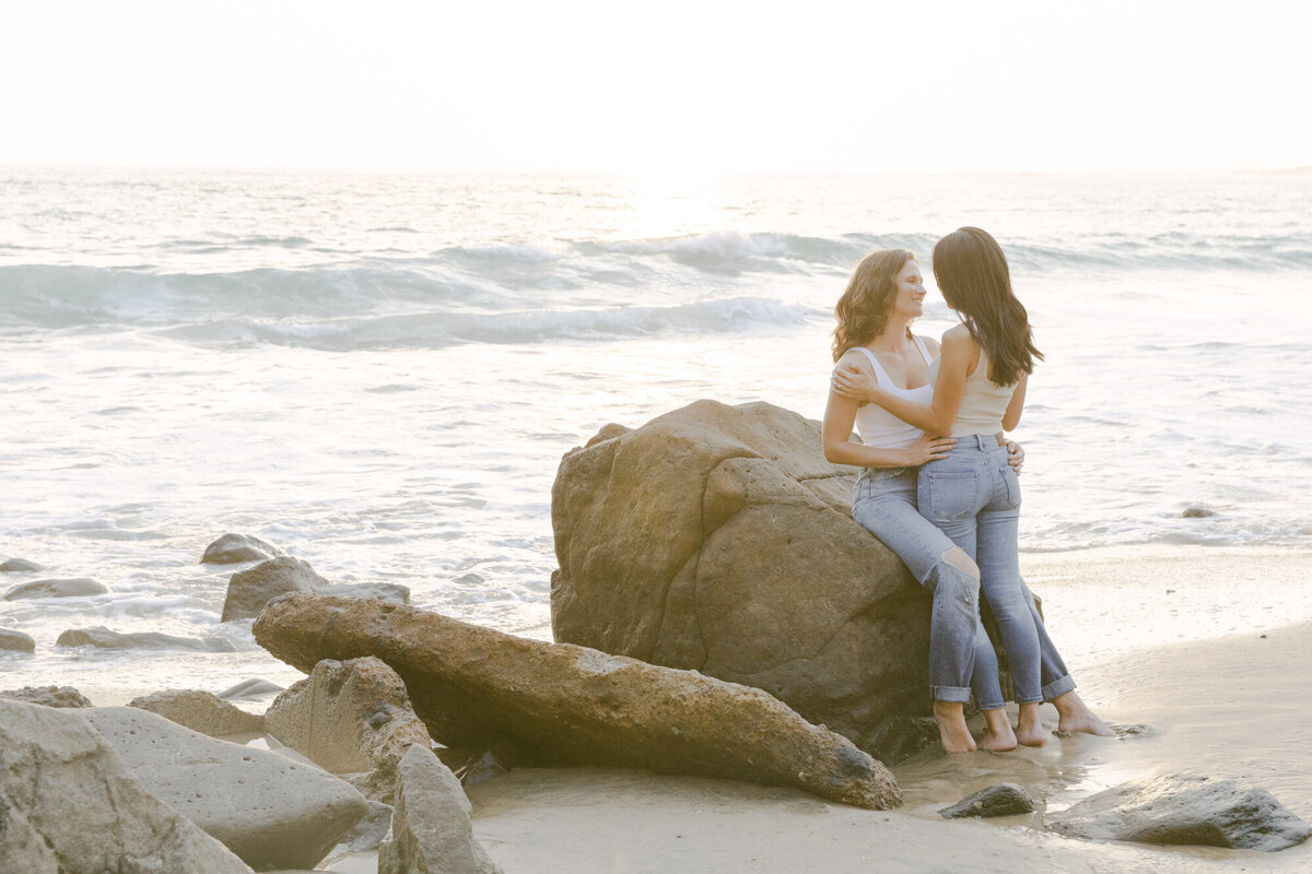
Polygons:
<instances>
[{"instance_id":1,"label":"rough cracked grey-beige rock filling the bottom left corner","mask_svg":"<svg viewBox=\"0 0 1312 874\"><path fill-rule=\"evenodd\" d=\"M0 701L0 871L251 869L148 793L81 713Z\"/></svg>"}]
</instances>

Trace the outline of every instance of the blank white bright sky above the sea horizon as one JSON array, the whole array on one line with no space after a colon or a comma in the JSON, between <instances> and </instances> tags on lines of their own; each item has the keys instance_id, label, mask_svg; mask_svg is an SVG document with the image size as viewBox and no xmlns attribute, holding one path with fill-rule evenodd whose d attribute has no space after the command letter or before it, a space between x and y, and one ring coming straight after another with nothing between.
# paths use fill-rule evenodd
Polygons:
<instances>
[{"instance_id":1,"label":"blank white bright sky above the sea horizon","mask_svg":"<svg viewBox=\"0 0 1312 874\"><path fill-rule=\"evenodd\" d=\"M20 0L0 165L1284 169L1309 9Z\"/></svg>"}]
</instances>

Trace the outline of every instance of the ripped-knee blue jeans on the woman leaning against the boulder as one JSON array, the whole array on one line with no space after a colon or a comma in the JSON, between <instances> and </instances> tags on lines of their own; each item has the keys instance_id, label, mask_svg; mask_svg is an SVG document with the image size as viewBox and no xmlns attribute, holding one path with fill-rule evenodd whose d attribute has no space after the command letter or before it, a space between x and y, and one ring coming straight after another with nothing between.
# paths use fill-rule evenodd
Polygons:
<instances>
[{"instance_id":1,"label":"ripped-knee blue jeans on the woman leaning against the boulder","mask_svg":"<svg viewBox=\"0 0 1312 874\"><path fill-rule=\"evenodd\" d=\"M980 622L980 583L943 554L956 544L916 510L916 468L867 468L851 515L892 549L934 598L929 626L929 692L935 701L1004 706L997 654Z\"/></svg>"}]
</instances>

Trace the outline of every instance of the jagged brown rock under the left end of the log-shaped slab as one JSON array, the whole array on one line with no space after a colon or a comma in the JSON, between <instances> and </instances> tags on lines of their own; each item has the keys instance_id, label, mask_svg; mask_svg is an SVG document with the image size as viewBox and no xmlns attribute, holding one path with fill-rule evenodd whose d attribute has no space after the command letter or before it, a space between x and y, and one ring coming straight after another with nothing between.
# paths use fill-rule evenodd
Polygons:
<instances>
[{"instance_id":1,"label":"jagged brown rock under the left end of the log-shaped slab","mask_svg":"<svg viewBox=\"0 0 1312 874\"><path fill-rule=\"evenodd\" d=\"M382 801L392 797L405 748L432 746L405 684L373 656L319 662L269 705L264 718L276 740Z\"/></svg>"}]
</instances>

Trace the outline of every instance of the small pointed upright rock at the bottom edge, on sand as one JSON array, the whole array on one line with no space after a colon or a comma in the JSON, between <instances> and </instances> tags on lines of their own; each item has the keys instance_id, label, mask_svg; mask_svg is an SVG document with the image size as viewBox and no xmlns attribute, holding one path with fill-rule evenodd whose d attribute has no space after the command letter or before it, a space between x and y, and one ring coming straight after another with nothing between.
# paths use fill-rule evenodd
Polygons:
<instances>
[{"instance_id":1,"label":"small pointed upright rock at the bottom edge, on sand","mask_svg":"<svg viewBox=\"0 0 1312 874\"><path fill-rule=\"evenodd\" d=\"M500 874L474 840L470 799L430 750L411 747L398 767L392 837L378 874Z\"/></svg>"}]
</instances>

